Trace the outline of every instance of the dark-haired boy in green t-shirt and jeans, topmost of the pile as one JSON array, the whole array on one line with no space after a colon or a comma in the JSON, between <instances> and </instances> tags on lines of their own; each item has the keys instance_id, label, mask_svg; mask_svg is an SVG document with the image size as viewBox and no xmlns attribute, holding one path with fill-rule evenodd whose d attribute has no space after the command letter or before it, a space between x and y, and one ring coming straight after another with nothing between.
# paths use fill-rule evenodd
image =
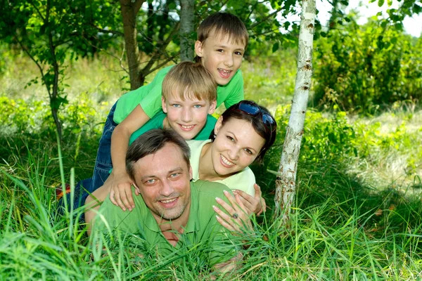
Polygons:
<instances>
[{"instance_id":1,"label":"dark-haired boy in green t-shirt and jeans, topmost of the pile","mask_svg":"<svg viewBox=\"0 0 422 281\"><path fill-rule=\"evenodd\" d=\"M196 60L217 81L217 107L223 102L229 107L243 100L243 78L239 67L246 46L248 32L243 22L235 15L216 13L203 20L198 27ZM133 181L124 169L129 138L160 111L162 79L170 69L171 67L165 67L150 84L124 94L110 110L98 148L89 192L96 190L105 181L111 162L114 167L112 190L127 190L132 185ZM108 146L110 135L111 151Z\"/></svg>"}]
</instances>

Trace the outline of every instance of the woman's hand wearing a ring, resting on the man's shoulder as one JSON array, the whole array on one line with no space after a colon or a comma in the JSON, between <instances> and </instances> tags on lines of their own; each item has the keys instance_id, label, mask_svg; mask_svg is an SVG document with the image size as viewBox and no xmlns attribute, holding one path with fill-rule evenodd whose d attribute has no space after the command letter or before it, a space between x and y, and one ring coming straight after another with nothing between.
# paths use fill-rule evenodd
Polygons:
<instances>
[{"instance_id":1,"label":"woman's hand wearing a ring, resting on the man's shoulder","mask_svg":"<svg viewBox=\"0 0 422 281\"><path fill-rule=\"evenodd\" d=\"M217 221L231 232L241 233L245 228L252 230L252 223L250 223L250 218L245 210L245 205L243 205L241 197L239 195L234 195L233 197L233 195L226 190L224 190L224 195L231 203L231 206L218 197L215 199L228 213L226 214L219 209L219 207L212 206L214 211L218 214Z\"/></svg>"}]
</instances>

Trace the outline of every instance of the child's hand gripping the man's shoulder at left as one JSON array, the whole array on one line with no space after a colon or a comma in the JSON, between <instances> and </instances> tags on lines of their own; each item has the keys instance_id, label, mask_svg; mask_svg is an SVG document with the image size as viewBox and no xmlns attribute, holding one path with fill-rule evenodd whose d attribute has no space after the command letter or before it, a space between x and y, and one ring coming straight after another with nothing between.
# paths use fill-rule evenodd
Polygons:
<instances>
[{"instance_id":1,"label":"child's hand gripping the man's shoulder at left","mask_svg":"<svg viewBox=\"0 0 422 281\"><path fill-rule=\"evenodd\" d=\"M135 187L135 194L139 195L139 188L129 178L128 174L115 175L113 179L110 189L110 201L122 208L123 211L126 211L126 209L132 211L135 207L134 198L132 197L132 185Z\"/></svg>"}]
</instances>

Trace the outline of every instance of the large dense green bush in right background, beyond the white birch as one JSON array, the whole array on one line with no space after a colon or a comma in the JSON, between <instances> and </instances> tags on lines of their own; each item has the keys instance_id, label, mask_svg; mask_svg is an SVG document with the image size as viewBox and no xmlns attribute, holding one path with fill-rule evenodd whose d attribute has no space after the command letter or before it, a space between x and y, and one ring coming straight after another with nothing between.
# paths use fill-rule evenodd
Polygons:
<instances>
[{"instance_id":1,"label":"large dense green bush in right background, beyond the white birch","mask_svg":"<svg viewBox=\"0 0 422 281\"><path fill-rule=\"evenodd\" d=\"M421 100L421 48L421 38L374 20L330 30L316 41L314 101L374 112L399 100Z\"/></svg>"}]
</instances>

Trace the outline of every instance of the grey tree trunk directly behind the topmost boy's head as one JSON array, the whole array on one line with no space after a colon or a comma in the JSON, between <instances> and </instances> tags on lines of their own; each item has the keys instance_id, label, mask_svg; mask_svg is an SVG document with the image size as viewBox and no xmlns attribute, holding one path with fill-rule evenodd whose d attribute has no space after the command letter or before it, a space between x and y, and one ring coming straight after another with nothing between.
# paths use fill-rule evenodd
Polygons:
<instances>
[{"instance_id":1,"label":"grey tree trunk directly behind the topmost boy's head","mask_svg":"<svg viewBox=\"0 0 422 281\"><path fill-rule=\"evenodd\" d=\"M180 0L180 60L193 61L193 20L195 0Z\"/></svg>"}]
</instances>

